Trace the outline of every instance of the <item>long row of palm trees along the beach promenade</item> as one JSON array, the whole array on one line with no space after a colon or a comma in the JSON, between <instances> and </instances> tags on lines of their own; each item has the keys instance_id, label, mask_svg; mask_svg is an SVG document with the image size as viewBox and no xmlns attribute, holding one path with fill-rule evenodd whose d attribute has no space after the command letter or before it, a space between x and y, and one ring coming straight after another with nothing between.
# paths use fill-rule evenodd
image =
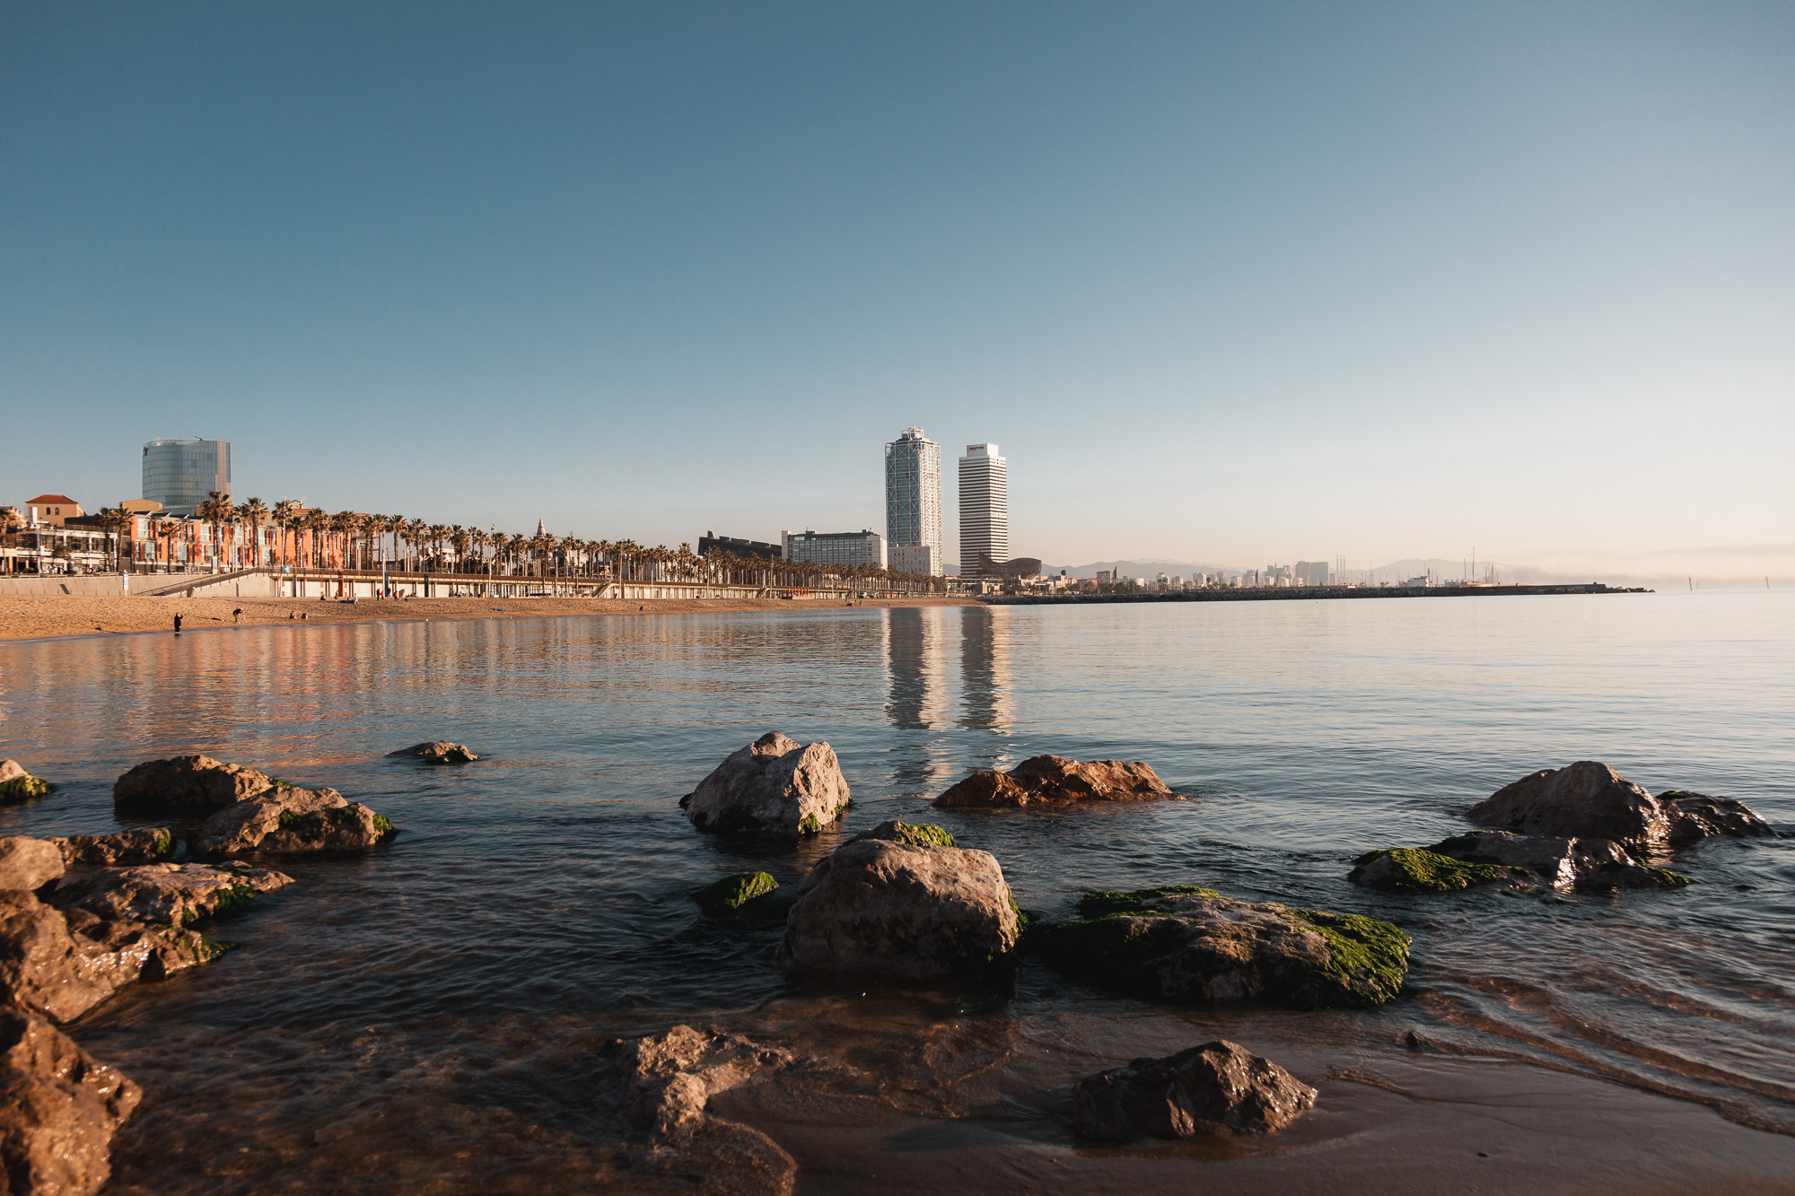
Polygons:
<instances>
[{"instance_id":1,"label":"long row of palm trees along the beach promenade","mask_svg":"<svg viewBox=\"0 0 1795 1196\"><path fill-rule=\"evenodd\" d=\"M115 512L118 526L131 515ZM106 512L102 512L106 514ZM273 506L258 497L232 505L214 490L196 510L212 530L214 562L226 567L298 566L312 569L381 569L398 573L476 575L485 578L542 578L546 582L691 582L702 585L754 587L845 587L944 593L946 578L898 573L872 566L813 566L792 560L740 557L713 550L700 557L691 544L648 548L635 541L587 541L465 528L406 515L372 515L350 510L327 514L293 499ZM248 535L237 535L246 530ZM275 532L267 544L264 530ZM176 519L153 521L153 533L169 541L163 560L172 560L172 541L181 535ZM289 551L291 542L291 551Z\"/></svg>"}]
</instances>

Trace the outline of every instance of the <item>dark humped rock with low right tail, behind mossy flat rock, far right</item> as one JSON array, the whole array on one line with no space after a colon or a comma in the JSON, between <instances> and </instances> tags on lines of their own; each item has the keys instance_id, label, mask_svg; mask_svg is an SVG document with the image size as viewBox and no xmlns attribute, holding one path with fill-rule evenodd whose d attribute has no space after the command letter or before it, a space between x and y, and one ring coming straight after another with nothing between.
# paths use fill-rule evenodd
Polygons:
<instances>
[{"instance_id":1,"label":"dark humped rock with low right tail, behind mossy flat rock, far right","mask_svg":"<svg viewBox=\"0 0 1795 1196\"><path fill-rule=\"evenodd\" d=\"M1524 776L1479 801L1467 817L1522 835L1610 839L1630 849L1772 833L1745 803L1678 790L1659 799L1596 760Z\"/></svg>"}]
</instances>

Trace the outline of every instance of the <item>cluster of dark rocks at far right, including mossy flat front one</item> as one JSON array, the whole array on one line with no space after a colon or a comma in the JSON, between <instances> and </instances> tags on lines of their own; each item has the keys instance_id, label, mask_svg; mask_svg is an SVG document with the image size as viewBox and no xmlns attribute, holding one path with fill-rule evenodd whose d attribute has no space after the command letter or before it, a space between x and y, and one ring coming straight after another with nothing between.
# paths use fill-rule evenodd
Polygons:
<instances>
[{"instance_id":1,"label":"cluster of dark rocks at far right, including mossy flat front one","mask_svg":"<svg viewBox=\"0 0 1795 1196\"><path fill-rule=\"evenodd\" d=\"M1353 860L1348 878L1386 893L1680 889L1689 878L1659 866L1669 851L1702 839L1772 833L1741 801L1684 790L1653 797L1594 760L1506 785L1468 817L1495 830L1431 848L1368 851Z\"/></svg>"}]
</instances>

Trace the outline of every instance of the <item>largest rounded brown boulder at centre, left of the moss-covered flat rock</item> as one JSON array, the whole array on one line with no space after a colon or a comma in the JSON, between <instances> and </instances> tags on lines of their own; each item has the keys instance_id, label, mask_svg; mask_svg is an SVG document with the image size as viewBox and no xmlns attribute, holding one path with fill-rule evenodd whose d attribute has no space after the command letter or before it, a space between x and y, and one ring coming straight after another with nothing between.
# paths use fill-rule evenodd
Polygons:
<instances>
[{"instance_id":1,"label":"largest rounded brown boulder at centre, left of the moss-covered flat rock","mask_svg":"<svg viewBox=\"0 0 1795 1196\"><path fill-rule=\"evenodd\" d=\"M978 973L1011 957L1021 910L987 851L941 828L881 822L804 876L779 963L901 981Z\"/></svg>"}]
</instances>

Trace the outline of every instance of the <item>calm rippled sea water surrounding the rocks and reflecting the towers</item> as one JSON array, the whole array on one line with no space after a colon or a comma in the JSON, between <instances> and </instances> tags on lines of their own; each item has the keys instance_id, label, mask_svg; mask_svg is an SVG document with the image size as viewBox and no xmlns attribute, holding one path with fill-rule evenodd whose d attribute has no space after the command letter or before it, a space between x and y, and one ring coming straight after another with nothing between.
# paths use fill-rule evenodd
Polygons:
<instances>
[{"instance_id":1,"label":"calm rippled sea water surrounding the rocks and reflecting the towers","mask_svg":"<svg viewBox=\"0 0 1795 1196\"><path fill-rule=\"evenodd\" d=\"M1063 1099L1023 1092L1018 1060L1057 1051L1075 1072L1106 1051L1073 1015L1138 1004L1034 964L1007 998L806 991L772 966L777 928L696 916L698 885L747 866L795 884L838 842L729 844L680 817L768 729L835 745L847 833L946 824L1036 914L1088 887L1197 882L1416 939L1411 991L1382 1011L1215 1015L1230 1025L1366 1051L1416 1029L1795 1133L1795 842L1687 849L1678 893L1393 898L1344 878L1359 851L1434 842L1497 787L1583 758L1795 830L1791 645L1786 591L18 643L0 646L0 752L61 788L0 812L0 833L113 830L111 781L192 751L337 787L404 830L368 858L293 864L300 884L217 930L239 950L79 1024L149 1092L117 1149L126 1191L587 1191L616 1174L589 1131L589 1052L682 1020L883 1068L878 1099L908 1113L1003 1121ZM384 758L424 738L485 760ZM1194 799L926 808L966 770L1038 752L1145 760Z\"/></svg>"}]
</instances>

